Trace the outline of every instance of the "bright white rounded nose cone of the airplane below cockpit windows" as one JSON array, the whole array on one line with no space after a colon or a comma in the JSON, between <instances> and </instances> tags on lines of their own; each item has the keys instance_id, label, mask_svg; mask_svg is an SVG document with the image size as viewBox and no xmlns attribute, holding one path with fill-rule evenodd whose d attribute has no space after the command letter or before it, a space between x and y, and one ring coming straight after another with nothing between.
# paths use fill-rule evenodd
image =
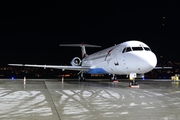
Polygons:
<instances>
[{"instance_id":1,"label":"bright white rounded nose cone of the airplane below cockpit windows","mask_svg":"<svg viewBox=\"0 0 180 120\"><path fill-rule=\"evenodd\" d=\"M139 62L138 63L139 63L141 71L149 72L157 64L156 55L153 52L144 52L139 57Z\"/></svg>"}]
</instances>

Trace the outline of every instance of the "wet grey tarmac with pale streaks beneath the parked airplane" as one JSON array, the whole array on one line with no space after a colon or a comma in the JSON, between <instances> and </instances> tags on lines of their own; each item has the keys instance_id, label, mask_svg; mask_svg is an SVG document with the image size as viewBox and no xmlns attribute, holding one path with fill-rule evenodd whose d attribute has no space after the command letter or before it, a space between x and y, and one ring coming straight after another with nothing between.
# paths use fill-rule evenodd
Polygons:
<instances>
[{"instance_id":1,"label":"wet grey tarmac with pale streaks beneath the parked airplane","mask_svg":"<svg viewBox=\"0 0 180 120\"><path fill-rule=\"evenodd\" d=\"M180 120L180 86L170 79L0 79L1 120Z\"/></svg>"}]
</instances>

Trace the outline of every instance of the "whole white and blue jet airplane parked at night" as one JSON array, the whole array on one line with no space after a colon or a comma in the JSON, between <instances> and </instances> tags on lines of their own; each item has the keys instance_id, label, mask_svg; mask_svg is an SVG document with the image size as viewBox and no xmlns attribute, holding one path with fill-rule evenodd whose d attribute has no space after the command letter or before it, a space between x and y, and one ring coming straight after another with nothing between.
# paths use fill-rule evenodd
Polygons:
<instances>
[{"instance_id":1,"label":"whole white and blue jet airplane parked at night","mask_svg":"<svg viewBox=\"0 0 180 120\"><path fill-rule=\"evenodd\" d=\"M150 47L138 40L129 40L91 55L86 53L86 47L101 47L90 44L60 44L60 46L81 47L82 58L74 57L71 66L60 65L32 65L8 64L10 66L43 67L62 70L79 71L79 82L85 81L84 74L109 74L111 81L117 75L127 75L131 85L137 84L135 78L143 78L144 74L153 69L158 69L157 57ZM162 67L161 67L162 68Z\"/></svg>"}]
</instances>

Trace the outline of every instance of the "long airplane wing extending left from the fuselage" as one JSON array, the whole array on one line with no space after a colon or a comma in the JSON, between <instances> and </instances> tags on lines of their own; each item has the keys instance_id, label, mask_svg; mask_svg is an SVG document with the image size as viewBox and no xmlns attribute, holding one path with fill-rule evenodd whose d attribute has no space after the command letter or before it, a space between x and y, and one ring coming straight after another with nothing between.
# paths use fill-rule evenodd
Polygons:
<instances>
[{"instance_id":1,"label":"long airplane wing extending left from the fuselage","mask_svg":"<svg viewBox=\"0 0 180 120\"><path fill-rule=\"evenodd\" d=\"M42 67L42 68L53 68L63 70L77 70L86 71L90 69L90 66L60 66L60 65L31 65L31 64L8 64L9 66L26 66L26 67Z\"/></svg>"}]
</instances>

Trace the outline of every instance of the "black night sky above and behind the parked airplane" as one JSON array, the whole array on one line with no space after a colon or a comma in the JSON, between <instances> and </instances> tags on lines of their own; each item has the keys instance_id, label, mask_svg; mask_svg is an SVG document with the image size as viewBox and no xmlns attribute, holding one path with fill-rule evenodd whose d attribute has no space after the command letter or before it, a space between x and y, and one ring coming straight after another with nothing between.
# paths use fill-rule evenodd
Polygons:
<instances>
[{"instance_id":1,"label":"black night sky above and behind the parked airplane","mask_svg":"<svg viewBox=\"0 0 180 120\"><path fill-rule=\"evenodd\" d=\"M69 64L80 48L87 54L127 40L140 40L164 60L180 60L180 7L177 3L126 1L6 3L0 6L1 64Z\"/></svg>"}]
</instances>

